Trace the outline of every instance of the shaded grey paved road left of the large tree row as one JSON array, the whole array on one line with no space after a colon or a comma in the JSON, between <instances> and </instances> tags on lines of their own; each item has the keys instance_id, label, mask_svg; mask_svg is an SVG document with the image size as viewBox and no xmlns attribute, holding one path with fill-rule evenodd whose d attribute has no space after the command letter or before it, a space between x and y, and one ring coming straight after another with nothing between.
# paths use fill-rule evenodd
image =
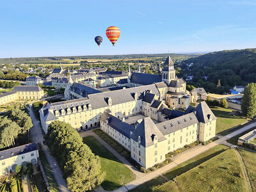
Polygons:
<instances>
[{"instance_id":1,"label":"shaded grey paved road left of the large tree row","mask_svg":"<svg viewBox=\"0 0 256 192\"><path fill-rule=\"evenodd\" d=\"M42 143L44 141L44 131L40 125L40 121L35 118L31 105L29 105L29 114L32 119L33 127L30 129L31 140L36 143ZM56 159L50 155L49 148L45 145L42 145L42 150L44 150L47 161L51 167L52 173L55 177L55 180L58 184L58 187L61 192L68 191L67 183L62 177L62 172L60 166Z\"/></svg>"}]
</instances>

